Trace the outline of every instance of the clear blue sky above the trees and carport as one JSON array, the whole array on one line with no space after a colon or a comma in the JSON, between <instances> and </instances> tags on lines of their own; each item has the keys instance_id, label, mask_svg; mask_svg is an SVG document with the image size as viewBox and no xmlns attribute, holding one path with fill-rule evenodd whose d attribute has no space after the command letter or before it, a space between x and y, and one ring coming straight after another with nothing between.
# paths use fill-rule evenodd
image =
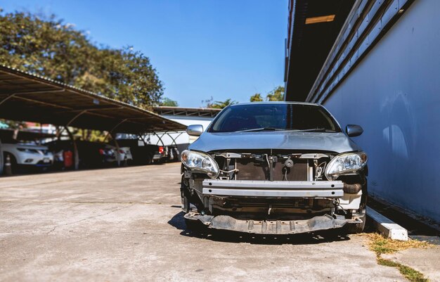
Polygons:
<instances>
[{"instance_id":1,"label":"clear blue sky above the trees and carport","mask_svg":"<svg viewBox=\"0 0 440 282\"><path fill-rule=\"evenodd\" d=\"M5 12L55 13L96 44L148 56L164 96L200 107L249 101L283 84L287 0L15 0Z\"/></svg>"}]
</instances>

